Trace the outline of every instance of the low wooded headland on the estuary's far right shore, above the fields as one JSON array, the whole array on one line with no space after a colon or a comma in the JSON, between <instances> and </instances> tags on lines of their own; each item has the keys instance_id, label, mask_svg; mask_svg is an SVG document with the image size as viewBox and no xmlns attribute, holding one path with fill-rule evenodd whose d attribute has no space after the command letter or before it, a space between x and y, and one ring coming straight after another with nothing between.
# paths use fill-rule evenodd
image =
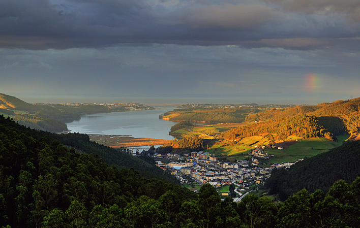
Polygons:
<instances>
[{"instance_id":1,"label":"low wooded headland on the estuary's far right shore, above the fields","mask_svg":"<svg viewBox=\"0 0 360 228\"><path fill-rule=\"evenodd\" d=\"M179 109L166 112L159 118L169 118L171 121L197 121L209 123L241 123L248 113L260 112L258 109L226 108L226 109ZM178 114L169 117L170 114Z\"/></svg>"}]
</instances>

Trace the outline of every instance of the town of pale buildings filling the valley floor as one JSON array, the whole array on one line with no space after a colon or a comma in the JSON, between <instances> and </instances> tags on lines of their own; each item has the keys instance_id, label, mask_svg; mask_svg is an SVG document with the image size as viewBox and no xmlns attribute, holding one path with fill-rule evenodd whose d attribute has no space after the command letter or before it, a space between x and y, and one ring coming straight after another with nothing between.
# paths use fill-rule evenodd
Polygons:
<instances>
[{"instance_id":1,"label":"town of pale buildings filling the valley floor","mask_svg":"<svg viewBox=\"0 0 360 228\"><path fill-rule=\"evenodd\" d=\"M282 148L278 148L282 149ZM235 162L218 161L215 154L208 152L191 152L190 154L158 154L152 157L157 166L169 171L188 188L198 191L200 186L209 183L217 188L224 199L231 195L231 185L235 186L236 199L245 193L258 189L271 175L273 169L289 168L295 162L272 164L268 167L259 167L258 159L266 159L270 155L264 154L263 148L256 148L249 153L249 160L236 160Z\"/></svg>"}]
</instances>

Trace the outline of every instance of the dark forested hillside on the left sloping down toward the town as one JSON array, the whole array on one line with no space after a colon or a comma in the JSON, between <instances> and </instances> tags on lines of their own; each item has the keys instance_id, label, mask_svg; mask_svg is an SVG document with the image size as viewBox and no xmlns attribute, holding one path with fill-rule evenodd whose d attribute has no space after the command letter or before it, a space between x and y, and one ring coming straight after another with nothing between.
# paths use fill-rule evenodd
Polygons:
<instances>
[{"instance_id":1,"label":"dark forested hillside on the left sloping down toward the town","mask_svg":"<svg viewBox=\"0 0 360 228\"><path fill-rule=\"evenodd\" d=\"M159 217L165 210L157 212L158 207L191 199L177 185L145 179L134 169L118 170L50 135L36 139L41 132L34 138L34 130L11 125L0 124L2 227L131 226L138 212Z\"/></svg>"}]
</instances>

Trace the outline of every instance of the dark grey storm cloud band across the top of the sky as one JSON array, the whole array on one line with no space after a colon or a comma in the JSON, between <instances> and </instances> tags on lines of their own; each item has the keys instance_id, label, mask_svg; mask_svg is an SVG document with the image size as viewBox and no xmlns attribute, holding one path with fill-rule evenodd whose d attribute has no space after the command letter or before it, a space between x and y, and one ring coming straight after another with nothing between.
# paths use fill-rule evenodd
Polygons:
<instances>
[{"instance_id":1,"label":"dark grey storm cloud band across the top of the sky","mask_svg":"<svg viewBox=\"0 0 360 228\"><path fill-rule=\"evenodd\" d=\"M359 6L357 0L4 0L0 47L172 43L312 49L360 36Z\"/></svg>"}]
</instances>

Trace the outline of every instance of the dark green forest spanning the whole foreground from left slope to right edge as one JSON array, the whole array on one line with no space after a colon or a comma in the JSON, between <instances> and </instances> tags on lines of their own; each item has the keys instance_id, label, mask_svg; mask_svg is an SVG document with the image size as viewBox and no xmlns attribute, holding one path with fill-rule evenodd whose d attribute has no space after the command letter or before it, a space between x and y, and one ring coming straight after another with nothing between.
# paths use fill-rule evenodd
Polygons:
<instances>
[{"instance_id":1,"label":"dark green forest spanning the whole foreground from left slope to right edge","mask_svg":"<svg viewBox=\"0 0 360 228\"><path fill-rule=\"evenodd\" d=\"M96 143L82 148L86 135L55 136L0 116L1 227L288 228L359 223L359 177L351 184L339 180L328 191L302 189L283 202L249 194L234 203L231 198L221 201L210 184L193 193L159 179L156 172L138 171L143 164L109 166L105 161L116 155L108 158L99 151L106 147ZM123 160L132 156L117 153Z\"/></svg>"}]
</instances>

